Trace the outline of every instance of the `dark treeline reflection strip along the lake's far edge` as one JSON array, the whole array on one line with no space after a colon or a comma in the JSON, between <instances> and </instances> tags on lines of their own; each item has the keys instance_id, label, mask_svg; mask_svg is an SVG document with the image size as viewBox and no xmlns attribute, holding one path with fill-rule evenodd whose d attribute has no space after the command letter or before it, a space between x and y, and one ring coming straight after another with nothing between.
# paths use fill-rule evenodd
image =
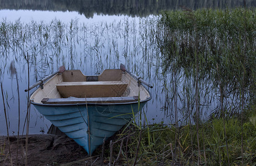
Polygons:
<instances>
[{"instance_id":1,"label":"dark treeline reflection strip along the lake's far edge","mask_svg":"<svg viewBox=\"0 0 256 166\"><path fill-rule=\"evenodd\" d=\"M243 0L0 0L0 9L31 9L41 11L77 11L85 17L94 13L130 16L157 14L162 10L176 10L183 7L198 8L233 8L244 6ZM256 6L256 0L246 1L247 7Z\"/></svg>"}]
</instances>

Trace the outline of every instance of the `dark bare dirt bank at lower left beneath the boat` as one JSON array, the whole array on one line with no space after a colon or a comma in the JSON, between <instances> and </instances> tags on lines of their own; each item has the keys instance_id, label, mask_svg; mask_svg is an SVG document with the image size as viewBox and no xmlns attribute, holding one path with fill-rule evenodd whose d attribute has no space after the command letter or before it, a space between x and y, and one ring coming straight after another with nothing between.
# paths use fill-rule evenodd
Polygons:
<instances>
[{"instance_id":1,"label":"dark bare dirt bank at lower left beneath the boat","mask_svg":"<svg viewBox=\"0 0 256 166\"><path fill-rule=\"evenodd\" d=\"M13 165L17 165L17 138L10 137ZM25 165L26 138L19 139L18 165ZM27 165L90 165L98 163L98 154L93 157L67 136L35 134L28 137ZM98 158L98 159L97 159ZM0 165L11 165L7 136L0 136Z\"/></svg>"}]
</instances>

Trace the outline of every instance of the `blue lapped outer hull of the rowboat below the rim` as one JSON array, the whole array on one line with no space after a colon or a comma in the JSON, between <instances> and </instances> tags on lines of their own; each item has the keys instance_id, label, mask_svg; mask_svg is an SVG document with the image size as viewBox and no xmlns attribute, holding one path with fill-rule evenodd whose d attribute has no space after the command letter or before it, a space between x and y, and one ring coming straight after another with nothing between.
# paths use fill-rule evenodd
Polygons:
<instances>
[{"instance_id":1,"label":"blue lapped outer hull of the rowboat below the rim","mask_svg":"<svg viewBox=\"0 0 256 166\"><path fill-rule=\"evenodd\" d=\"M88 154L103 144L141 110L146 101L115 104L45 105L32 102L54 126L74 139Z\"/></svg>"}]
</instances>

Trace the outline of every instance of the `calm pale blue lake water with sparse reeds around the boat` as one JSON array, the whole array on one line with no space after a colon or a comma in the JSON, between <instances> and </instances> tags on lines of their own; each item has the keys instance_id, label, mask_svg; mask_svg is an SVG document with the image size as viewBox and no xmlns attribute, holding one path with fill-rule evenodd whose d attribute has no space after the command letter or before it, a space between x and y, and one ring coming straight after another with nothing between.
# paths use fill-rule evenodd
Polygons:
<instances>
[{"instance_id":1,"label":"calm pale blue lake water with sparse reeds around the boat","mask_svg":"<svg viewBox=\"0 0 256 166\"><path fill-rule=\"evenodd\" d=\"M79 69L85 75L98 75L105 69L119 68L120 64L153 84L152 100L144 107L149 123L174 123L172 73L161 67L162 58L157 48L155 31L157 14L163 9L232 8L243 6L243 1L1 1L0 0L1 76L6 101L10 134L17 134L18 94L16 76L9 66L16 66L21 101L21 132L27 113L28 70L25 56L29 55L29 84L45 75L66 69ZM247 2L254 7L256 1ZM6 30L4 29L6 28ZM182 76L181 76L182 77ZM180 91L183 82L178 82ZM32 90L33 91L33 90ZM182 96L182 93L180 94ZM214 92L208 97L217 98ZM0 135L7 133L0 97ZM213 100L214 101L214 100ZM186 103L177 103L180 121ZM207 118L217 105L204 108ZM33 106L29 133L47 132L50 122Z\"/></svg>"}]
</instances>

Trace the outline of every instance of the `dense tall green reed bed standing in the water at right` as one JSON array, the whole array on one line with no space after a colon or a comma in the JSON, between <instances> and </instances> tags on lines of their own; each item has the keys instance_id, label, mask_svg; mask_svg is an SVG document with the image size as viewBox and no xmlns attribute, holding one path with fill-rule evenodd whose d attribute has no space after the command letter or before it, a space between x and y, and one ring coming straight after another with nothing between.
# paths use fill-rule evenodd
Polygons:
<instances>
[{"instance_id":1,"label":"dense tall green reed bed standing in the water at right","mask_svg":"<svg viewBox=\"0 0 256 166\"><path fill-rule=\"evenodd\" d=\"M256 90L253 71L255 66L250 61L255 59L254 15L255 9L247 8L197 11L186 9L163 12L157 27L157 43L163 57L164 71L178 71L180 75L185 75L187 80L193 82L190 88L195 89L196 98L187 103L196 107L196 126L202 116L198 108L202 105L201 98L207 99L209 91L221 96L219 106L214 109L216 111L213 114L219 115L218 117L222 117L223 120L228 165L230 138L226 136L226 121L238 113L241 116L243 132L244 108L254 105L252 94L255 94ZM202 90L201 93L198 92L199 89ZM237 106L240 111L237 111ZM204 133L205 131L202 130L202 134ZM198 136L199 133L197 133L199 149L201 139ZM241 135L242 153L244 152L243 136L244 134ZM216 140L220 142L220 139ZM220 151L219 146L220 144L217 149ZM197 154L198 164L199 156L200 151ZM206 157L204 150L204 158ZM241 162L243 164L243 154ZM220 154L219 164L223 164Z\"/></svg>"}]
</instances>

